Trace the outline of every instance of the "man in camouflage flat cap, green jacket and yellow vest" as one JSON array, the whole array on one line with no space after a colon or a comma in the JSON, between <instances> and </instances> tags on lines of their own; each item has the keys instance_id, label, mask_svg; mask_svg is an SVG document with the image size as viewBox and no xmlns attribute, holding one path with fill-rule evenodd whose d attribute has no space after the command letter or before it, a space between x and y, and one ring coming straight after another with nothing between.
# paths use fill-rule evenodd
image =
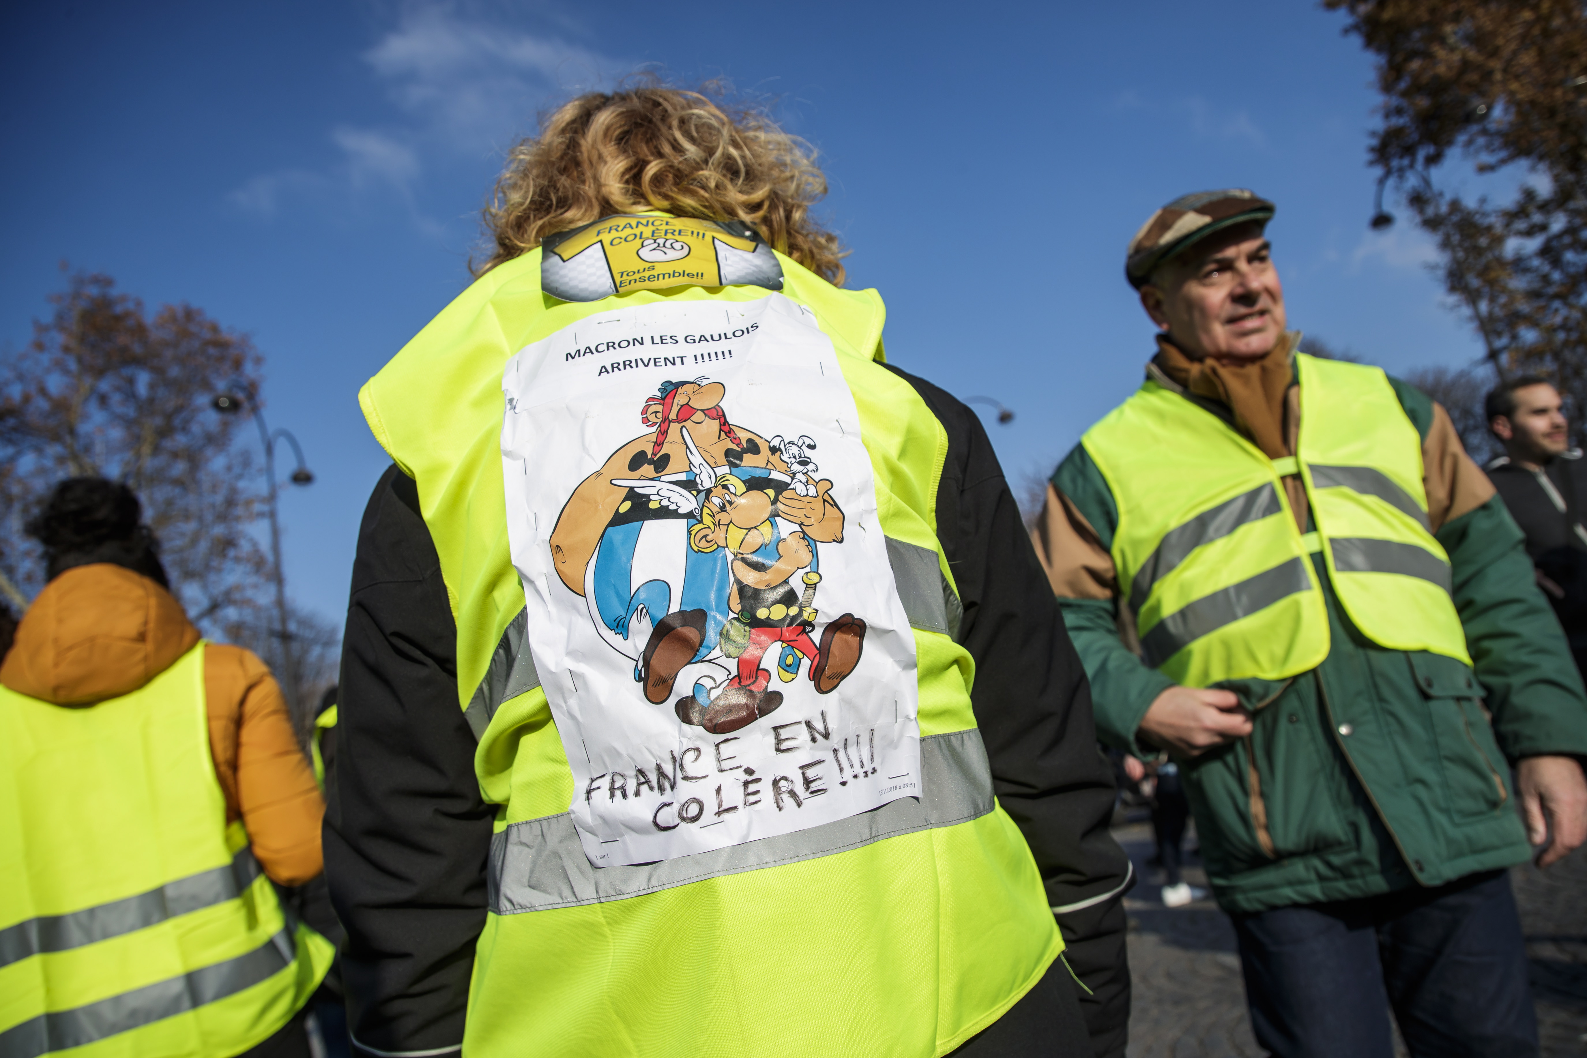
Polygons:
<instances>
[{"instance_id":1,"label":"man in camouflage flat cap, green jacket and yellow vest","mask_svg":"<svg viewBox=\"0 0 1587 1058\"><path fill-rule=\"evenodd\" d=\"M1449 414L1297 352L1273 213L1201 192L1132 240L1157 352L1036 549L1098 734L1181 771L1257 1041L1389 1058L1392 1009L1412 1055L1536 1053L1506 871L1587 836L1587 696Z\"/></svg>"}]
</instances>

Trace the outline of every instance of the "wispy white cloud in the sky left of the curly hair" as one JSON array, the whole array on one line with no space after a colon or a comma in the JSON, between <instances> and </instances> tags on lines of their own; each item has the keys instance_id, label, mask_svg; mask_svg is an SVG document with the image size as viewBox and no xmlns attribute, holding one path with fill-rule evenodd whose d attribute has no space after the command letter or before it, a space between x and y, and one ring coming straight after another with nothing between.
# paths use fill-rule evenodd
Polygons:
<instances>
[{"instance_id":1,"label":"wispy white cloud in the sky left of the curly hair","mask_svg":"<svg viewBox=\"0 0 1587 1058\"><path fill-rule=\"evenodd\" d=\"M395 194L416 222L414 190L425 162L501 151L533 130L535 114L562 97L597 87L624 63L559 36L484 21L452 3L408 3L362 56L386 86L387 121L335 125L338 160L324 171L262 173L229 200L260 217L294 200Z\"/></svg>"}]
</instances>

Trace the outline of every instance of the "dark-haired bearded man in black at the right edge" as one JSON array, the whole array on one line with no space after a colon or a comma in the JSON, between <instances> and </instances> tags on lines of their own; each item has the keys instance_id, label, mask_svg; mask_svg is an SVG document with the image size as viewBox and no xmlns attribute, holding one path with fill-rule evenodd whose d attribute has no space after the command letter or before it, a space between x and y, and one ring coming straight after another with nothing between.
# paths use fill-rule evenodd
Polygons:
<instances>
[{"instance_id":1,"label":"dark-haired bearded man in black at the right edge","mask_svg":"<svg viewBox=\"0 0 1587 1058\"><path fill-rule=\"evenodd\" d=\"M1587 665L1587 460L1570 443L1560 392L1538 374L1493 389L1484 406L1504 455L1487 465L1527 536L1538 587L1565 628L1576 668ZM1587 671L1587 669L1582 669Z\"/></svg>"}]
</instances>

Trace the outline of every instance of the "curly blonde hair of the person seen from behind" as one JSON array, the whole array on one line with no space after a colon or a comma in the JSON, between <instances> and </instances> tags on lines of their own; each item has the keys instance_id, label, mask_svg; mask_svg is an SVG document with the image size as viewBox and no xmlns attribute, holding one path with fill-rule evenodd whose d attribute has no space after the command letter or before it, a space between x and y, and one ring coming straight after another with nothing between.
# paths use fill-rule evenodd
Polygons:
<instances>
[{"instance_id":1,"label":"curly blonde hair of the person seen from behind","mask_svg":"<svg viewBox=\"0 0 1587 1058\"><path fill-rule=\"evenodd\" d=\"M838 236L809 216L827 194L816 151L762 111L641 84L590 92L541 121L508 154L484 227L494 252L475 276L541 240L617 213L660 209L743 220L774 249L843 286Z\"/></svg>"}]
</instances>

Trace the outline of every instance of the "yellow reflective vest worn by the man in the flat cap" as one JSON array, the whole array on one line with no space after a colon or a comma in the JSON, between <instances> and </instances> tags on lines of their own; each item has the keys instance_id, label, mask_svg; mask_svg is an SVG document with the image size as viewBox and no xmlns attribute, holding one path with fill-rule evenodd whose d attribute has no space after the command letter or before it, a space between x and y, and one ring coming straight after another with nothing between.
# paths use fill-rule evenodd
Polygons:
<instances>
[{"instance_id":1,"label":"yellow reflective vest worn by the man in the flat cap","mask_svg":"<svg viewBox=\"0 0 1587 1058\"><path fill-rule=\"evenodd\" d=\"M1433 538L1422 444L1378 368L1295 355L1300 438L1273 462L1154 379L1082 438L1119 506L1112 558L1147 665L1190 687L1285 679L1328 655L1311 554L1373 642L1470 663ZM1300 473L1301 535L1281 477Z\"/></svg>"}]
</instances>

